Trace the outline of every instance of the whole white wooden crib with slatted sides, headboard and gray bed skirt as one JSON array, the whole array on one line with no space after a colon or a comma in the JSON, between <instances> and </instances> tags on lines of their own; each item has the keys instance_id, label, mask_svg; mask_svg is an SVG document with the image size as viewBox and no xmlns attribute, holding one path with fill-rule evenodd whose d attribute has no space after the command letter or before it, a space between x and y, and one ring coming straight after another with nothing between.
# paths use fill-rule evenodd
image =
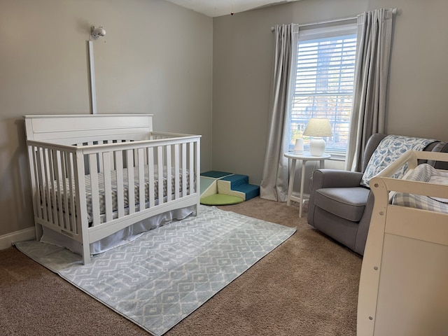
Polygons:
<instances>
[{"instance_id":1,"label":"whole white wooden crib with slatted sides, headboard and gray bed skirt","mask_svg":"<svg viewBox=\"0 0 448 336\"><path fill-rule=\"evenodd\" d=\"M152 115L25 116L36 238L83 255L200 204L200 136L153 132Z\"/></svg>"}]
</instances>

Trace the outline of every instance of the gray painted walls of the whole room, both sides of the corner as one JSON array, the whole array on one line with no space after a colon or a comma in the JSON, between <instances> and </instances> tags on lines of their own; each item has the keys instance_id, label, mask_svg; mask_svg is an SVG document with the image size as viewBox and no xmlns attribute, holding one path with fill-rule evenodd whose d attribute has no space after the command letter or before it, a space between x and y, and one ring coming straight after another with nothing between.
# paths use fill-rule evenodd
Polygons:
<instances>
[{"instance_id":1,"label":"gray painted walls of the whole room, both sides of the corner","mask_svg":"<svg viewBox=\"0 0 448 336\"><path fill-rule=\"evenodd\" d=\"M214 19L162 0L1 0L0 238L33 225L22 116L90 112L91 25L106 28L94 42L98 113L153 113L156 130L202 134L202 171L260 183L270 27L381 7L400 8L387 132L448 140L446 0L302 0Z\"/></svg>"}]
</instances>

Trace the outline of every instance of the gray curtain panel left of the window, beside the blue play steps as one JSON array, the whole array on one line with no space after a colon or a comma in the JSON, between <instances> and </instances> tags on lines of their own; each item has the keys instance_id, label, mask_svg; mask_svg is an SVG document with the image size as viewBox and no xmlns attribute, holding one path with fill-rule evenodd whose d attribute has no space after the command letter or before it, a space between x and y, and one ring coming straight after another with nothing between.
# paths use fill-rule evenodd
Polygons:
<instances>
[{"instance_id":1,"label":"gray curtain panel left of the window, beside the blue play steps","mask_svg":"<svg viewBox=\"0 0 448 336\"><path fill-rule=\"evenodd\" d=\"M298 25L277 25L270 102L269 134L263 165L260 197L286 202L288 195L288 151L290 133L289 106L292 98L292 76L295 76Z\"/></svg>"}]
</instances>

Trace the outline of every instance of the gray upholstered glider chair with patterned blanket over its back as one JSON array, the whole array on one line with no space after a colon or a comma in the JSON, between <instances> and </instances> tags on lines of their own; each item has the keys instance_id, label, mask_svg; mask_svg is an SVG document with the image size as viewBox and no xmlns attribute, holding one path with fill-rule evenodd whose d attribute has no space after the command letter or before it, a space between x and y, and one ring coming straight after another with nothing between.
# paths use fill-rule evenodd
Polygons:
<instances>
[{"instance_id":1,"label":"gray upholstered glider chair with patterned blanket over its back","mask_svg":"<svg viewBox=\"0 0 448 336\"><path fill-rule=\"evenodd\" d=\"M386 134L373 134L367 141L362 172L317 169L311 178L308 223L352 251L364 254L373 208L373 193L360 186L367 163ZM448 151L447 143L434 141L424 151ZM438 169L446 166L432 163Z\"/></svg>"}]
</instances>

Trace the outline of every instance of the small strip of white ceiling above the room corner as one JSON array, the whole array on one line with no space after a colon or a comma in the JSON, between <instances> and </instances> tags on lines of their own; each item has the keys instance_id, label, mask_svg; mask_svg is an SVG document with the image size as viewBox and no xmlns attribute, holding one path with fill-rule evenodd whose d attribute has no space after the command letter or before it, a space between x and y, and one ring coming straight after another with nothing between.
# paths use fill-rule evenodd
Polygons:
<instances>
[{"instance_id":1,"label":"small strip of white ceiling above the room corner","mask_svg":"<svg viewBox=\"0 0 448 336\"><path fill-rule=\"evenodd\" d=\"M167 0L176 5L214 18L254 8L277 5L298 0Z\"/></svg>"}]
</instances>

